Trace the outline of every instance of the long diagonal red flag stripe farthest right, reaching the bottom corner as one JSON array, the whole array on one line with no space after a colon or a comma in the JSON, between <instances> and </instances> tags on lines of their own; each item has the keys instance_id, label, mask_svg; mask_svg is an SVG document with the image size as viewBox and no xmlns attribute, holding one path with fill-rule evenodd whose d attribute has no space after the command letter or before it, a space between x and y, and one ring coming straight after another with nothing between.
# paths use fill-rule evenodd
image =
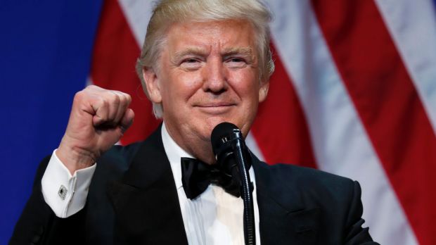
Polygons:
<instances>
[{"instance_id":1,"label":"long diagonal red flag stripe farthest right, reaching the bottom corner","mask_svg":"<svg viewBox=\"0 0 436 245\"><path fill-rule=\"evenodd\" d=\"M436 137L373 1L312 0L333 59L420 244L436 244Z\"/></svg>"}]
</instances>

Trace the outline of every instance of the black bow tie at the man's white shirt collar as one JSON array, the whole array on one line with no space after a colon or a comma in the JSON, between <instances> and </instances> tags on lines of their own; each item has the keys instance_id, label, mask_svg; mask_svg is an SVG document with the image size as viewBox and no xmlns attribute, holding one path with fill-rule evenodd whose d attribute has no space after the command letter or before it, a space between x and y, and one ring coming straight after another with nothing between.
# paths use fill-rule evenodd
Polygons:
<instances>
[{"instance_id":1,"label":"black bow tie at the man's white shirt collar","mask_svg":"<svg viewBox=\"0 0 436 245\"><path fill-rule=\"evenodd\" d=\"M239 197L239 183L218 164L208 165L194 158L181 158L181 182L188 199L202 194L209 184L217 184L227 193Z\"/></svg>"}]
</instances>

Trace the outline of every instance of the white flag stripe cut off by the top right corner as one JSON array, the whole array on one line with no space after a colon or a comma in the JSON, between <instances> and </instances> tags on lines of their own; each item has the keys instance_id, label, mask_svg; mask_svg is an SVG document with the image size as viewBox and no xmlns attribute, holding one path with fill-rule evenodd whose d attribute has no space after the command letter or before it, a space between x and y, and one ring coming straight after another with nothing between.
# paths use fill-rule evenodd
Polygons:
<instances>
[{"instance_id":1,"label":"white flag stripe cut off by the top right corner","mask_svg":"<svg viewBox=\"0 0 436 245\"><path fill-rule=\"evenodd\" d=\"M436 132L436 16L431 0L376 0Z\"/></svg>"}]
</instances>

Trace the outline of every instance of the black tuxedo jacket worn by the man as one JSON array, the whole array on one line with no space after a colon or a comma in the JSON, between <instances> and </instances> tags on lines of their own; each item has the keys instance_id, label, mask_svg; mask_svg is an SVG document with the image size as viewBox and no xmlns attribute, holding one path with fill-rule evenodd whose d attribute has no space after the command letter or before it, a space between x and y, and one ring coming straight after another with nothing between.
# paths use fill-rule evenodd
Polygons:
<instances>
[{"instance_id":1,"label":"black tuxedo jacket worn by the man","mask_svg":"<svg viewBox=\"0 0 436 245\"><path fill-rule=\"evenodd\" d=\"M86 206L57 218L41 194L44 159L10 244L187 244L160 128L99 160ZM344 177L252 159L261 244L376 244L361 225L360 187Z\"/></svg>"}]
</instances>

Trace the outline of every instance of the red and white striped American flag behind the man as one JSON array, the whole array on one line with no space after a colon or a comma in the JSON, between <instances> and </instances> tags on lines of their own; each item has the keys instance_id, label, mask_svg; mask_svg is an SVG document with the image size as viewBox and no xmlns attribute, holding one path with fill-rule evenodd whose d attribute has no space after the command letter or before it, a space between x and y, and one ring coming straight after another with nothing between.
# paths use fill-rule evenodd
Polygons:
<instances>
[{"instance_id":1,"label":"red and white striped American flag behind the man","mask_svg":"<svg viewBox=\"0 0 436 245\"><path fill-rule=\"evenodd\" d=\"M268 163L358 180L380 244L436 244L432 1L270 0L276 72L247 144ZM133 95L122 144L158 125L134 73L150 1L105 1L91 82Z\"/></svg>"}]
</instances>

